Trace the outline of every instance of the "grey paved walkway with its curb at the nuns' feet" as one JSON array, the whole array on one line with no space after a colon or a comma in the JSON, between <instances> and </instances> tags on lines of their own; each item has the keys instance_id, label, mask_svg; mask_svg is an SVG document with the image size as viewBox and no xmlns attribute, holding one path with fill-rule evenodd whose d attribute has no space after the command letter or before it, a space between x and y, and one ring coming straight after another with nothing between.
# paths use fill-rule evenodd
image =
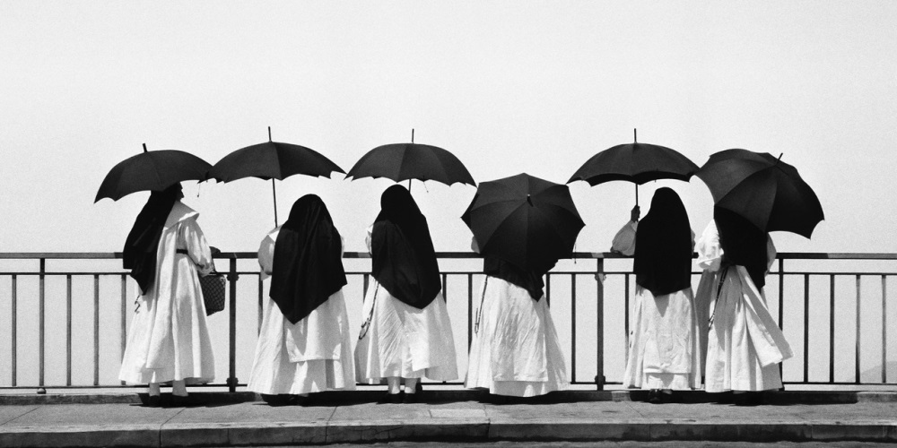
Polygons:
<instances>
[{"instance_id":1,"label":"grey paved walkway with its curb at the nuns' feet","mask_svg":"<svg viewBox=\"0 0 897 448\"><path fill-rule=\"evenodd\" d=\"M431 395L446 398L446 393ZM161 409L143 407L133 393L0 395L0 446L506 440L897 442L894 392L778 392L767 395L767 401L777 404L757 407L710 402L652 405L631 401L640 395L630 392L571 392L526 404L492 404L469 400L470 394L456 395L468 400L375 404L369 401L376 397L374 393L360 392L352 395L354 402L331 395L317 404L272 407L262 401L243 401L254 399L248 393L209 393L196 394L204 405ZM693 395L687 401L706 401L701 397Z\"/></svg>"}]
</instances>

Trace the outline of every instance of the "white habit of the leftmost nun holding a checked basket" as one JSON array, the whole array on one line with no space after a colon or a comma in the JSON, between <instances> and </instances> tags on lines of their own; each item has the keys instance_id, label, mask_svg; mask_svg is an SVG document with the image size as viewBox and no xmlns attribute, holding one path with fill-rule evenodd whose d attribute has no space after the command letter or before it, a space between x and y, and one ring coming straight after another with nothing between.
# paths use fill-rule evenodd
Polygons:
<instances>
[{"instance_id":1,"label":"white habit of the leftmost nun holding a checked basket","mask_svg":"<svg viewBox=\"0 0 897 448\"><path fill-rule=\"evenodd\" d=\"M136 300L118 374L121 381L186 380L192 384L214 379L212 341L197 276L197 271L206 274L214 266L196 224L198 216L180 201L171 207L159 240L155 279L150 290ZM178 254L178 249L187 254Z\"/></svg>"}]
</instances>

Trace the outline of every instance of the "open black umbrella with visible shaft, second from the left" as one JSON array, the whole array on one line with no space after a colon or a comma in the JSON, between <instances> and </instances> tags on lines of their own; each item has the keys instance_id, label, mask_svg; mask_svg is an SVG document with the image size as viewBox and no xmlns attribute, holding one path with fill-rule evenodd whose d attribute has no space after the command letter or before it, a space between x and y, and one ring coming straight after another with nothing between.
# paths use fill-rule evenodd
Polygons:
<instances>
[{"instance_id":1,"label":"open black umbrella with visible shaft, second from the left","mask_svg":"<svg viewBox=\"0 0 897 448\"><path fill-rule=\"evenodd\" d=\"M208 172L210 179L221 182L244 177L271 179L274 194L274 226L277 225L277 189L274 179L283 180L302 174L312 177L330 177L333 172L345 173L343 168L327 159L318 151L304 146L271 141L271 127L268 127L268 141L233 151L218 160Z\"/></svg>"}]
</instances>

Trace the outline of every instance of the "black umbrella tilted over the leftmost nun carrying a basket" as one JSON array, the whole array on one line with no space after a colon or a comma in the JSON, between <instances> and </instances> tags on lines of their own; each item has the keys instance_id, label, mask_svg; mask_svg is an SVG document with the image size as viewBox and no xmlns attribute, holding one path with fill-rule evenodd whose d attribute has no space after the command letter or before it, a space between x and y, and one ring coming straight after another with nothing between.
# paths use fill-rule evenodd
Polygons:
<instances>
[{"instance_id":1,"label":"black umbrella tilted over the leftmost nun carrying a basket","mask_svg":"<svg viewBox=\"0 0 897 448\"><path fill-rule=\"evenodd\" d=\"M189 152L176 150L146 151L118 162L100 184L93 202L108 197L118 201L127 194L162 191L185 180L203 180L212 168Z\"/></svg>"}]
</instances>

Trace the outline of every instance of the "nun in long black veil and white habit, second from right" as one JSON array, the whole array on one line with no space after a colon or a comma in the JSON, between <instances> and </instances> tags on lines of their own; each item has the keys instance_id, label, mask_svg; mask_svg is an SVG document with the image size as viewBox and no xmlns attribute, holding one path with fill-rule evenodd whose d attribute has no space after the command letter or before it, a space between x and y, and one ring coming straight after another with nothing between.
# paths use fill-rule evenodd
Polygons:
<instances>
[{"instance_id":1,"label":"nun in long black veil and white habit, second from right","mask_svg":"<svg viewBox=\"0 0 897 448\"><path fill-rule=\"evenodd\" d=\"M694 233L679 195L660 188L636 234L635 310L623 386L649 401L701 386L701 349L692 296Z\"/></svg>"}]
</instances>

